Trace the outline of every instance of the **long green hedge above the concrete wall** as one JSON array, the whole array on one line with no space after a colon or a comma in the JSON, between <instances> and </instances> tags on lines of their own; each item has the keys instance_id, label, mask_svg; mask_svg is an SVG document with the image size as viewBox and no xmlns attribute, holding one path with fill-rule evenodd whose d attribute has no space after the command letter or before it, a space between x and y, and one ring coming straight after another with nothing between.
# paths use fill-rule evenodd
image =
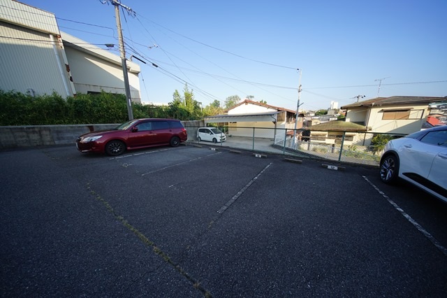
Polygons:
<instances>
[{"instance_id":1,"label":"long green hedge above the concrete wall","mask_svg":"<svg viewBox=\"0 0 447 298\"><path fill-rule=\"evenodd\" d=\"M174 106L133 104L133 118L177 118L195 120L187 111ZM122 123L128 120L123 94L77 94L62 98L59 94L33 97L21 92L0 90L0 126L75 125Z\"/></svg>"}]
</instances>

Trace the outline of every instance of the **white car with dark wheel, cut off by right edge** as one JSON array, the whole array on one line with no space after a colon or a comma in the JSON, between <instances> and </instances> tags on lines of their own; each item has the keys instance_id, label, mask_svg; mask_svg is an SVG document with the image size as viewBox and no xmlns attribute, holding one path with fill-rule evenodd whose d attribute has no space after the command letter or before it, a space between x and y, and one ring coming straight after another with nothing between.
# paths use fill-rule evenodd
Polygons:
<instances>
[{"instance_id":1,"label":"white car with dark wheel, cut off by right edge","mask_svg":"<svg viewBox=\"0 0 447 298\"><path fill-rule=\"evenodd\" d=\"M380 178L402 178L447 202L447 125L391 140L380 161Z\"/></svg>"}]
</instances>

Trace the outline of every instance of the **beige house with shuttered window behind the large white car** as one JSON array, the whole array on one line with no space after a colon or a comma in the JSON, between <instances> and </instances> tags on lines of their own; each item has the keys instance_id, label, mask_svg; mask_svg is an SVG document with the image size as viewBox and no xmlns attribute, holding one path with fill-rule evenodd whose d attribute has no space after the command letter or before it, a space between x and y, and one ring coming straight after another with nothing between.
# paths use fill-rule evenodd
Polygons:
<instances>
[{"instance_id":1,"label":"beige house with shuttered window behind the large white car","mask_svg":"<svg viewBox=\"0 0 447 298\"><path fill-rule=\"evenodd\" d=\"M411 134L423 126L429 104L445 97L377 97L342 106L346 122L364 125L371 132Z\"/></svg>"}]
</instances>

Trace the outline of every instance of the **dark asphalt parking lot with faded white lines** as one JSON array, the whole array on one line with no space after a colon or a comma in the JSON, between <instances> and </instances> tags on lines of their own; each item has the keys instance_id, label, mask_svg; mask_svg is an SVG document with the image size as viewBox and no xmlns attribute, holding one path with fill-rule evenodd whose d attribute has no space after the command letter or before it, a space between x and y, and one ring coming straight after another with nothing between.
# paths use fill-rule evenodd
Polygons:
<instances>
[{"instance_id":1,"label":"dark asphalt parking lot with faded white lines","mask_svg":"<svg viewBox=\"0 0 447 298\"><path fill-rule=\"evenodd\" d=\"M1 151L1 297L445 297L447 204L211 148Z\"/></svg>"}]
</instances>

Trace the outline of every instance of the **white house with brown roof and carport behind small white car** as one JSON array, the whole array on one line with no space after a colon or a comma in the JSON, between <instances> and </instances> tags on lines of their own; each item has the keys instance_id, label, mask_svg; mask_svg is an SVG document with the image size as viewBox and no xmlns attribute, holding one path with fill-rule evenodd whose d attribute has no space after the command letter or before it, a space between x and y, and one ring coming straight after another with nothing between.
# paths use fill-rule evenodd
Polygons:
<instances>
[{"instance_id":1,"label":"white house with brown roof and carport behind small white car","mask_svg":"<svg viewBox=\"0 0 447 298\"><path fill-rule=\"evenodd\" d=\"M219 123L228 127L230 136L275 138L285 136L285 129L295 128L296 111L245 99L223 115L203 118L205 125ZM297 128L302 127L303 117L298 117ZM255 135L254 135L255 134Z\"/></svg>"}]
</instances>

